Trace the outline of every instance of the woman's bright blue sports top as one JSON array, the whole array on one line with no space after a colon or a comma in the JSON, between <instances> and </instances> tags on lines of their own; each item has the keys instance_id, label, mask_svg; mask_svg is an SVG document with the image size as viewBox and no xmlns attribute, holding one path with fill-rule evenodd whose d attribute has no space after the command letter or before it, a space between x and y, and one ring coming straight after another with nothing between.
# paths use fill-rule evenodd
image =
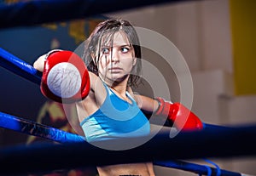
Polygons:
<instances>
[{"instance_id":1,"label":"woman's bright blue sports top","mask_svg":"<svg viewBox=\"0 0 256 176\"><path fill-rule=\"evenodd\" d=\"M107 96L102 106L80 123L85 139L91 142L148 135L150 133L148 119L131 95L126 92L131 99L130 104L120 99L107 85L104 86Z\"/></svg>"}]
</instances>

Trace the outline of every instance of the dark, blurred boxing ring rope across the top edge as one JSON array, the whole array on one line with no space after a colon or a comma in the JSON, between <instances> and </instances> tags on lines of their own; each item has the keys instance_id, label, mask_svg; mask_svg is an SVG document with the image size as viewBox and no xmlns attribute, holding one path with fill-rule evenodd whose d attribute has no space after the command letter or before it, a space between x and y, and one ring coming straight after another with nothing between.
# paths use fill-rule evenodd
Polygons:
<instances>
[{"instance_id":1,"label":"dark, blurred boxing ring rope across the top edge","mask_svg":"<svg viewBox=\"0 0 256 176\"><path fill-rule=\"evenodd\" d=\"M0 29L80 19L118 10L175 2L178 0L130 0L129 3L119 0L37 0L0 5Z\"/></svg>"}]
</instances>

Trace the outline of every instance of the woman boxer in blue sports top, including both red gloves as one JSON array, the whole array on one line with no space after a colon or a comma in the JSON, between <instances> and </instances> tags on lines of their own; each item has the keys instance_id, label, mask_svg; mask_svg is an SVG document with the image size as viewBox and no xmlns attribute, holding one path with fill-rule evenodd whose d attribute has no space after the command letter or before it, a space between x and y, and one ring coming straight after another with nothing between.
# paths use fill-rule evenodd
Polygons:
<instances>
[{"instance_id":1,"label":"woman boxer in blue sports top, including both red gloves","mask_svg":"<svg viewBox=\"0 0 256 176\"><path fill-rule=\"evenodd\" d=\"M169 121L175 121L178 130L203 127L199 118L183 105L133 94L132 87L140 80L142 61L137 32L128 21L103 21L84 44L84 62L78 57L73 62L69 57L70 52L67 51L50 51L39 57L34 67L43 71L41 90L46 97L76 102L79 122L88 142L147 136L150 124L141 110L154 113L155 116L166 116ZM67 67L55 69L56 65L63 62L72 62L84 71L82 84L73 74L76 71L62 71L68 70ZM84 63L87 68L83 69ZM67 77L64 77L64 72L67 72ZM67 86L64 88L63 85ZM77 89L74 85L83 85L79 89L82 92L81 99L75 99L73 94L67 98L67 94ZM65 98L61 96L63 92ZM151 162L103 166L97 167L97 170L100 176L154 176Z\"/></svg>"}]
</instances>

